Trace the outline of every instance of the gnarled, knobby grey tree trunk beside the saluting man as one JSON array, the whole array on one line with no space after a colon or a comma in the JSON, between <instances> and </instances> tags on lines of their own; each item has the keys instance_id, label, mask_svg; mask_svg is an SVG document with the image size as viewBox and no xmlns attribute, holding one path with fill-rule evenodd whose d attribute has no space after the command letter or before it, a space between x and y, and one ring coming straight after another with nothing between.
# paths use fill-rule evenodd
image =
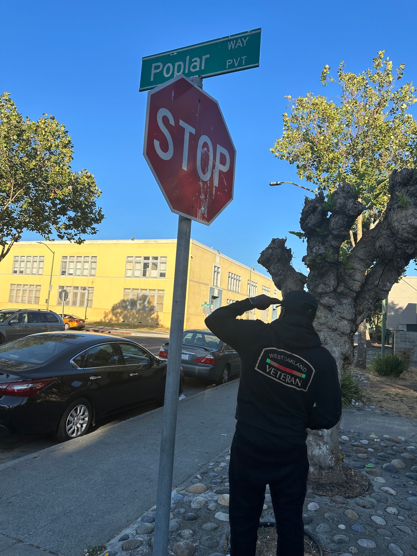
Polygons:
<instances>
[{"instance_id":1,"label":"gnarled, knobby grey tree trunk beside the saluting man","mask_svg":"<svg viewBox=\"0 0 417 556\"><path fill-rule=\"evenodd\" d=\"M395 170L389 179L389 192L383 218L364 232L346 264L339 260L340 246L349 239L351 228L365 210L348 184L337 188L330 210L324 205L322 192L305 199L300 225L307 239L303 261L309 268L308 276L291 266L292 253L285 239L273 239L258 259L283 295L307 285L316 297L319 310L315 327L336 360L339 376L343 366L353 362L353 337L359 325L417 256L417 170ZM397 192L408 198L406 205L399 204ZM337 437L338 425L331 430L310 431L311 480L331 483L343 479Z\"/></svg>"}]
</instances>

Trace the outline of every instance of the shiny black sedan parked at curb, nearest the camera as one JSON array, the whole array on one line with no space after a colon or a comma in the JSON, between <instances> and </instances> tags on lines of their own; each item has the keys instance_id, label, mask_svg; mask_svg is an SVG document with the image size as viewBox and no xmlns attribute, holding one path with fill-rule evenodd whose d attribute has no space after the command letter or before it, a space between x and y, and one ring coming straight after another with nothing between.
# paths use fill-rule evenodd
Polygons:
<instances>
[{"instance_id":1,"label":"shiny black sedan parked at curb, nearest the camera","mask_svg":"<svg viewBox=\"0 0 417 556\"><path fill-rule=\"evenodd\" d=\"M0 434L85 434L128 406L163 401L166 361L132 340L46 332L0 346ZM180 371L180 392L184 377Z\"/></svg>"}]
</instances>

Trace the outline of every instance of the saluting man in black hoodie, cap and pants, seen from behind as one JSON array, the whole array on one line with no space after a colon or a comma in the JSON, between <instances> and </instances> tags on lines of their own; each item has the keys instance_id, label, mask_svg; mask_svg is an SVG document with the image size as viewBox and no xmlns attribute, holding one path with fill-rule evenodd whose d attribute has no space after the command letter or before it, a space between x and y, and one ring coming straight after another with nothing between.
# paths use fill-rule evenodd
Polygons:
<instances>
[{"instance_id":1,"label":"saluting man in black hoodie, cap and pants, seen from behind","mask_svg":"<svg viewBox=\"0 0 417 556\"><path fill-rule=\"evenodd\" d=\"M269 324L236 319L275 304L281 313ZM304 556L306 429L330 429L341 416L336 362L312 325L316 310L311 294L289 291L282 301L263 294L236 301L205 320L242 360L229 466L231 556L255 556L267 484L277 555Z\"/></svg>"}]
</instances>

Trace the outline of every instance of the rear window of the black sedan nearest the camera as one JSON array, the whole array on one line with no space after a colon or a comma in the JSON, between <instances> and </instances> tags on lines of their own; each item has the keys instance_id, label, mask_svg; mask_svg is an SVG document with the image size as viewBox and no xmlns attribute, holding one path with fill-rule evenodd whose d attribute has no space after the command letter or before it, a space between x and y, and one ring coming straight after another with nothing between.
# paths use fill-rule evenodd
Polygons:
<instances>
[{"instance_id":1,"label":"rear window of the black sedan nearest the camera","mask_svg":"<svg viewBox=\"0 0 417 556\"><path fill-rule=\"evenodd\" d=\"M47 363L55 355L69 349L63 334L33 335L0 346L0 368L22 370Z\"/></svg>"}]
</instances>

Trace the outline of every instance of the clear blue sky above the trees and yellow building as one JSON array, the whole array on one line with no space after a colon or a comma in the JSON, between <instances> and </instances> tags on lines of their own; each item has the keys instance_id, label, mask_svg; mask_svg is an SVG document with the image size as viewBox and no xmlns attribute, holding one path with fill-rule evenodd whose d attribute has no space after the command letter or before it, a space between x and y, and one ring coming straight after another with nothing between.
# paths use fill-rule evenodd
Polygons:
<instances>
[{"instance_id":1,"label":"clear blue sky above the trees and yellow building","mask_svg":"<svg viewBox=\"0 0 417 556\"><path fill-rule=\"evenodd\" d=\"M386 0L8 2L0 89L11 93L23 116L51 113L67 127L73 169L88 168L102 190L106 219L90 239L172 238L177 216L142 155L141 58L262 27L259 68L204 80L236 146L235 198L211 226L193 222L191 236L247 265L256 264L272 237L288 236L294 266L303 270L304 244L288 231L299 230L304 192L268 185L302 183L294 167L269 152L282 131L284 95L324 94L325 64L335 73L344 60L360 72L382 49L395 67L405 63L406 79L417 81L416 11L409 0L400 10ZM23 239L38 238L26 233Z\"/></svg>"}]
</instances>

